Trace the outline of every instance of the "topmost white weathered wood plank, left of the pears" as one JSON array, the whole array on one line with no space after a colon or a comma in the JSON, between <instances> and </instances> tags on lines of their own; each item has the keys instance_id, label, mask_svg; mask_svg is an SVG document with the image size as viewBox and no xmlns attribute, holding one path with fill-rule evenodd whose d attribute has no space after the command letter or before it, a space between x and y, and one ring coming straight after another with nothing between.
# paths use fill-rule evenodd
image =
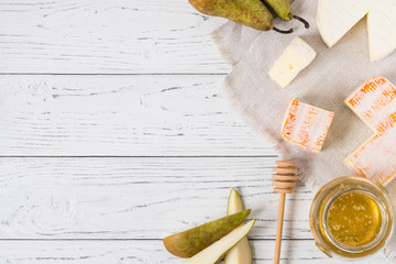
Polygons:
<instances>
[{"instance_id":1,"label":"topmost white weathered wood plank, left of the pears","mask_svg":"<svg viewBox=\"0 0 396 264\"><path fill-rule=\"evenodd\" d=\"M179 0L1 1L0 73L228 73L226 22Z\"/></svg>"}]
</instances>

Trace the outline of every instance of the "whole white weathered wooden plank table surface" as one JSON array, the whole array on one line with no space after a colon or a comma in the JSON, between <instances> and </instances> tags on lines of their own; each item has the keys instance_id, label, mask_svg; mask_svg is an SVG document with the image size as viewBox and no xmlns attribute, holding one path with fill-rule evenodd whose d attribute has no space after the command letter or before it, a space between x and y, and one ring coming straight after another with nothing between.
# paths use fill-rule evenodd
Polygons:
<instances>
[{"instance_id":1,"label":"whole white weathered wooden plank table surface","mask_svg":"<svg viewBox=\"0 0 396 264\"><path fill-rule=\"evenodd\" d=\"M276 153L221 95L221 23L187 0L0 0L0 263L180 263L161 239L232 187L272 263ZM312 197L288 196L282 263L330 262Z\"/></svg>"}]
</instances>

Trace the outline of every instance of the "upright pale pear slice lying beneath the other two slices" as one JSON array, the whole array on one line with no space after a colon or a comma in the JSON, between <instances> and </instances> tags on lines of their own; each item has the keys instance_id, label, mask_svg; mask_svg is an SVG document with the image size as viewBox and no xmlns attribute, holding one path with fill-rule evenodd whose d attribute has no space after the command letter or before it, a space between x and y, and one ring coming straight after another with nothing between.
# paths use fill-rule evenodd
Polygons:
<instances>
[{"instance_id":1,"label":"upright pale pear slice lying beneath the other two slices","mask_svg":"<svg viewBox=\"0 0 396 264\"><path fill-rule=\"evenodd\" d=\"M227 215L243 211L243 202L240 194L232 188L228 201ZM226 264L252 264L252 248L248 238L243 238L235 246L233 246L226 255Z\"/></svg>"}]
</instances>

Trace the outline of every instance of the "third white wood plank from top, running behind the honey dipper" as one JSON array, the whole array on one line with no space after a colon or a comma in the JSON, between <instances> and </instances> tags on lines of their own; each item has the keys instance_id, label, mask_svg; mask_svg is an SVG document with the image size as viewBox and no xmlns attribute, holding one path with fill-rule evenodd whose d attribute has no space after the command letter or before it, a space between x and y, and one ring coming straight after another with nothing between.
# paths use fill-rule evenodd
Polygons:
<instances>
[{"instance_id":1,"label":"third white wood plank from top, running behind the honey dipper","mask_svg":"<svg viewBox=\"0 0 396 264\"><path fill-rule=\"evenodd\" d=\"M0 239L162 239L226 215L238 188L255 239L275 237L275 158L0 158ZM314 194L288 196L285 239L310 239Z\"/></svg>"}]
</instances>

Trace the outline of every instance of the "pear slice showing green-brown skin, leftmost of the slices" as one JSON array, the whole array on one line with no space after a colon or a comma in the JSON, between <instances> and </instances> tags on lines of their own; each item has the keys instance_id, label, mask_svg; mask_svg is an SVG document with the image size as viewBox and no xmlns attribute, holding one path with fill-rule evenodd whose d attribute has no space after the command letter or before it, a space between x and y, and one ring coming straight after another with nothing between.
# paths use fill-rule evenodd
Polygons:
<instances>
[{"instance_id":1,"label":"pear slice showing green-brown skin, leftmost of the slices","mask_svg":"<svg viewBox=\"0 0 396 264\"><path fill-rule=\"evenodd\" d=\"M169 235L163 240L168 252L179 257L190 257L211 245L232 230L241 226L250 210L241 211L218 220Z\"/></svg>"}]
</instances>

